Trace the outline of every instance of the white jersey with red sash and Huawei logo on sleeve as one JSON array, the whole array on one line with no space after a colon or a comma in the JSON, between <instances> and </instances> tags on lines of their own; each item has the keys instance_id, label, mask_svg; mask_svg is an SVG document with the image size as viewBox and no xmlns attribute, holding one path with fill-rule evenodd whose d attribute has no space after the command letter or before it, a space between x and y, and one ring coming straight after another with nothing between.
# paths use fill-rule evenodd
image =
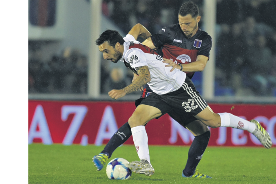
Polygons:
<instances>
[{"instance_id":1,"label":"white jersey with red sash and Huawei logo on sleeve","mask_svg":"<svg viewBox=\"0 0 276 184\"><path fill-rule=\"evenodd\" d=\"M134 72L137 67L148 66L151 81L147 83L150 89L158 95L176 91L185 81L186 74L180 70L173 70L172 67L165 67L163 59L154 50L135 41L134 37L128 34L124 37L124 53L120 61ZM136 72L137 73L137 72Z\"/></svg>"}]
</instances>

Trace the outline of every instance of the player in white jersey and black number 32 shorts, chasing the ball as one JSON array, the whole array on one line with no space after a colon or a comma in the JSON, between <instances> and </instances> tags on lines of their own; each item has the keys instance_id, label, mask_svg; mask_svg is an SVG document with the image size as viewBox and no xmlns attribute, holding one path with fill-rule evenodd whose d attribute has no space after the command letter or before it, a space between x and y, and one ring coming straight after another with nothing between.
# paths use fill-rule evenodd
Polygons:
<instances>
[{"instance_id":1,"label":"player in white jersey and black number 32 shorts, chasing the ball","mask_svg":"<svg viewBox=\"0 0 276 184\"><path fill-rule=\"evenodd\" d=\"M96 40L104 59L114 63L124 62L138 75L127 87L108 92L112 99L118 99L137 91L145 84L148 84L153 91L141 101L128 121L133 142L141 160L129 164L129 168L134 173L143 173L149 176L154 174L144 125L153 118L160 117L173 109L179 109L185 114L192 114L212 128L232 127L247 130L254 134L264 147L271 147L269 133L259 122L256 120L249 122L230 113L214 113L202 99L189 77L181 70L171 71L176 67L166 67L167 64L162 62L160 55L135 41L137 36L137 32L129 32L126 37L122 38L117 31L106 30Z\"/></svg>"}]
</instances>

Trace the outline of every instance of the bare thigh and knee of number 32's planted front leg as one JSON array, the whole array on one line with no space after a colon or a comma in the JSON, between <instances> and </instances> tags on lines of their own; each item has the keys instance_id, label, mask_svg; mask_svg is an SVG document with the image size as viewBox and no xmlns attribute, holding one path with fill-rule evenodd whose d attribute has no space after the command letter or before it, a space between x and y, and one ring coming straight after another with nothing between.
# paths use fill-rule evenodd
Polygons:
<instances>
[{"instance_id":1,"label":"bare thigh and knee of number 32's planted front leg","mask_svg":"<svg viewBox=\"0 0 276 184\"><path fill-rule=\"evenodd\" d=\"M132 128L144 125L153 118L156 118L161 115L162 112L158 108L141 104L135 109L135 111L129 118L129 126Z\"/></svg>"}]
</instances>

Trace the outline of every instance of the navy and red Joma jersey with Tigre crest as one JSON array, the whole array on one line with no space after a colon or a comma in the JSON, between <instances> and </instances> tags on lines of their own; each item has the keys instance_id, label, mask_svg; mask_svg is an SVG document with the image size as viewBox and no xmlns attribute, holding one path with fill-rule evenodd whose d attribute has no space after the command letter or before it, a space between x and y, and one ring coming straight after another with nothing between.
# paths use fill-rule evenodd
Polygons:
<instances>
[{"instance_id":1,"label":"navy and red Joma jersey with Tigre crest","mask_svg":"<svg viewBox=\"0 0 276 184\"><path fill-rule=\"evenodd\" d=\"M207 32L198 29L193 37L186 38L179 24L164 27L151 38L159 50L158 54L173 60L176 64L194 62L198 55L209 57L212 47L212 38ZM185 73L192 78L195 72Z\"/></svg>"}]
</instances>

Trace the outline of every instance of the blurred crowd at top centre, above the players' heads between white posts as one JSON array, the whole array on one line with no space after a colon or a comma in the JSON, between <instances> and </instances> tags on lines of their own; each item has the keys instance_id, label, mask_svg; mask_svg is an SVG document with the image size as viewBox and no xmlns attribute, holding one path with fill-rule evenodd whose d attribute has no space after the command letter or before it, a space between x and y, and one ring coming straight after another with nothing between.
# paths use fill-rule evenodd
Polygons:
<instances>
[{"instance_id":1,"label":"blurred crowd at top centre, above the players' heads between white posts","mask_svg":"<svg viewBox=\"0 0 276 184\"><path fill-rule=\"evenodd\" d=\"M164 26L178 23L178 10L184 2L185 0L103 0L102 12L124 34L137 23L154 34ZM193 0L193 2L202 12L203 0Z\"/></svg>"}]
</instances>

